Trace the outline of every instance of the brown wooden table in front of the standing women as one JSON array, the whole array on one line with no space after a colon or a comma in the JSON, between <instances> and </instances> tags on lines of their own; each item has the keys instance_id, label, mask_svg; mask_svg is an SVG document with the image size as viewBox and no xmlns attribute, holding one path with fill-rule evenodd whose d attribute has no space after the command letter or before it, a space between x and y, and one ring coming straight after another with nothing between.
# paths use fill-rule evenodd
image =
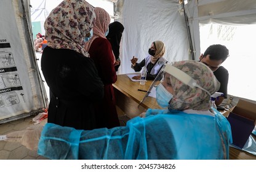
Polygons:
<instances>
[{"instance_id":1,"label":"brown wooden table in front of the standing women","mask_svg":"<svg viewBox=\"0 0 256 172\"><path fill-rule=\"evenodd\" d=\"M138 89L148 90L151 84L151 80L147 80L145 85L140 85L140 82L132 82L126 74L118 75L118 80L113 84L118 108L130 118L136 117L148 108L161 109L156 99L152 97L148 97L138 106L146 94ZM256 156L230 147L230 160L256 160Z\"/></svg>"}]
</instances>

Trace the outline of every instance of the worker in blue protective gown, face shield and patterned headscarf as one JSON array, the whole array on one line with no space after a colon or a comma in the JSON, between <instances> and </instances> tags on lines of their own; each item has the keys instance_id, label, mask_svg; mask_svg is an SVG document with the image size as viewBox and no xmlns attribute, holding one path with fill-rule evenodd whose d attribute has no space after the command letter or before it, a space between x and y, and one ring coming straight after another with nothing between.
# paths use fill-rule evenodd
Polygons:
<instances>
[{"instance_id":1,"label":"worker in blue protective gown, face shield and patterned headscarf","mask_svg":"<svg viewBox=\"0 0 256 172\"><path fill-rule=\"evenodd\" d=\"M156 100L168 109L148 109L146 117L111 129L46 123L38 154L51 159L228 159L230 123L210 104L220 87L213 72L192 60L166 65L164 72Z\"/></svg>"}]
</instances>

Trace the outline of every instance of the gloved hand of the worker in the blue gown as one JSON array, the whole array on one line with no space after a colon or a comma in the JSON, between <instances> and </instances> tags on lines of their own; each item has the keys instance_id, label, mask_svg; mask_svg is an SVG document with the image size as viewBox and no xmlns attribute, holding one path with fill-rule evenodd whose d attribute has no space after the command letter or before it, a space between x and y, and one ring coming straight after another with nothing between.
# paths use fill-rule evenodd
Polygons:
<instances>
[{"instance_id":1,"label":"gloved hand of the worker in the blue gown","mask_svg":"<svg viewBox=\"0 0 256 172\"><path fill-rule=\"evenodd\" d=\"M28 127L22 131L8 133L5 141L19 142L23 146L26 146L26 148L36 151L38 149L38 142L43 127L44 126L42 125L34 125L33 127Z\"/></svg>"}]
</instances>

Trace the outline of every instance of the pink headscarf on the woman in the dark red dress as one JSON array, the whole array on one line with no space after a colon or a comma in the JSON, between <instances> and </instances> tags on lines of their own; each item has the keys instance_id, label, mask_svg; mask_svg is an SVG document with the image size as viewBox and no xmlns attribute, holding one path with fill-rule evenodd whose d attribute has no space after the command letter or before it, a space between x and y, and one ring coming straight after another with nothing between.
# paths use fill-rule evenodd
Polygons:
<instances>
[{"instance_id":1,"label":"pink headscarf on the woman in the dark red dress","mask_svg":"<svg viewBox=\"0 0 256 172\"><path fill-rule=\"evenodd\" d=\"M86 45L84 49L88 52L90 49L90 45L92 45L92 42L94 42L94 39L97 37L103 37L106 39L105 33L108 30L108 25L110 25L110 15L106 10L100 8L100 7L95 7L94 9L96 19L93 23L94 25L94 35L90 39L90 41L86 42Z\"/></svg>"}]
</instances>

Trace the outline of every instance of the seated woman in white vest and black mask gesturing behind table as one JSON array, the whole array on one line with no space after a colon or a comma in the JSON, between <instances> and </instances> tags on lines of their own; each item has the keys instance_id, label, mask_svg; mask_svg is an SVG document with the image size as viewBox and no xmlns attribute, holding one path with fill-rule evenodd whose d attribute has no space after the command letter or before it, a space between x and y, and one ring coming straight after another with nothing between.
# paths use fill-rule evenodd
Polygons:
<instances>
[{"instance_id":1,"label":"seated woman in white vest and black mask gesturing behind table","mask_svg":"<svg viewBox=\"0 0 256 172\"><path fill-rule=\"evenodd\" d=\"M132 63L131 68L134 69L135 72L138 72L145 66L146 79L154 80L156 76L158 76L158 72L161 70L162 66L167 63L166 58L163 57L165 52L166 47L164 42L154 41L150 49L148 49L148 55L140 63L137 63L137 57L132 57L130 60ZM139 80L140 76L134 76L133 79Z\"/></svg>"}]
</instances>

